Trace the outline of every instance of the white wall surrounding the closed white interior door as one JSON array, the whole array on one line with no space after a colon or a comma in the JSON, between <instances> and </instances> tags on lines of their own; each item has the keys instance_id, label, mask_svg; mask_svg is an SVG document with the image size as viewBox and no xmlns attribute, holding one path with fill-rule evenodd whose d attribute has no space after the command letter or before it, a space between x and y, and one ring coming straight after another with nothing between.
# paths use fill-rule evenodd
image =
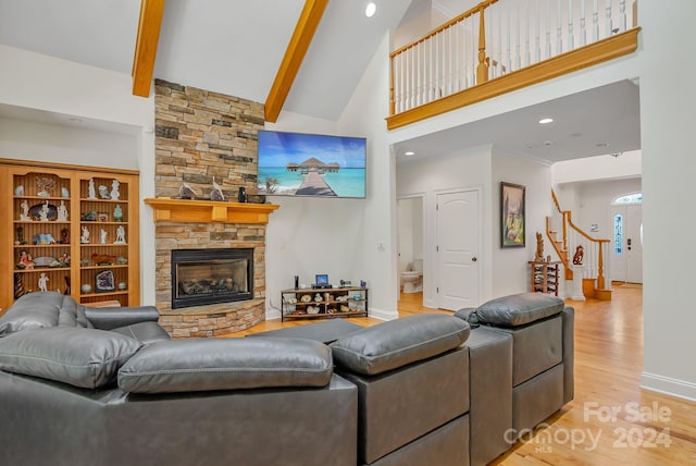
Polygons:
<instances>
[{"instance_id":1,"label":"white wall surrounding the closed white interior door","mask_svg":"<svg viewBox=\"0 0 696 466\"><path fill-rule=\"evenodd\" d=\"M490 146L474 147L468 150L437 158L424 158L399 161L396 165L397 197L422 195L424 203L423 233L423 303L437 307L437 268L435 257L436 201L437 194L451 191L480 189L482 206L481 252L477 253L481 267L480 299L490 296L490 199L492 199L492 155Z\"/></svg>"}]
</instances>

